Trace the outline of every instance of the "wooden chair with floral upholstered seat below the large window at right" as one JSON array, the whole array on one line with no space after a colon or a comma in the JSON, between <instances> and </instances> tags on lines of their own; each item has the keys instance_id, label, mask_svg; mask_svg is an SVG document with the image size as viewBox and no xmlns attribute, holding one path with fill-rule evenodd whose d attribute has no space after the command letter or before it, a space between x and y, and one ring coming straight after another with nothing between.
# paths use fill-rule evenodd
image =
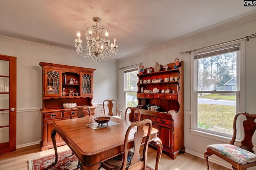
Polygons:
<instances>
[{"instance_id":1,"label":"wooden chair with floral upholstered seat below the large window at right","mask_svg":"<svg viewBox=\"0 0 256 170\"><path fill-rule=\"evenodd\" d=\"M242 117L242 115L244 115L245 117ZM240 119L238 119L238 117ZM256 130L255 119L256 114L240 112L235 115L233 121L233 137L230 144L214 144L207 146L207 150L204 153L207 170L209 170L208 156L211 156L212 154L229 162L234 170L246 170L249 167L256 166L256 155L252 150L254 147L252 144L252 136L254 135ZM240 127L240 120L244 120L242 122L244 139L241 141L241 146L238 147L235 146L234 143L236 141L237 134L236 126ZM243 132L241 132L241 134L242 133Z\"/></svg>"}]
</instances>

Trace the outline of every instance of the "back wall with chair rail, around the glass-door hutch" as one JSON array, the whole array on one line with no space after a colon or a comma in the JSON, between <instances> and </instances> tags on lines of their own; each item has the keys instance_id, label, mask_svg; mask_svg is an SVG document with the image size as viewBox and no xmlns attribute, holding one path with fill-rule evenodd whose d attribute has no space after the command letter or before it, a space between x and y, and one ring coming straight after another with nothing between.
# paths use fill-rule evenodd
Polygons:
<instances>
[{"instance_id":1,"label":"back wall with chair rail, around the glass-door hutch","mask_svg":"<svg viewBox=\"0 0 256 170\"><path fill-rule=\"evenodd\" d=\"M0 54L17 57L17 147L41 141L42 67L39 62L96 68L94 98L96 114L105 99L117 99L116 61L84 58L74 51L0 36Z\"/></svg>"}]
</instances>

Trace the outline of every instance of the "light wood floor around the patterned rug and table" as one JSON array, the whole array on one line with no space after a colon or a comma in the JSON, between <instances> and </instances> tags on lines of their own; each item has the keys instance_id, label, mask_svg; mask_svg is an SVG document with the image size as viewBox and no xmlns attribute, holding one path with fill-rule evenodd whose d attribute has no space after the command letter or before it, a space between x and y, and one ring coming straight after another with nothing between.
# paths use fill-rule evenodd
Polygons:
<instances>
[{"instance_id":1,"label":"light wood floor around the patterned rug and table","mask_svg":"<svg viewBox=\"0 0 256 170\"><path fill-rule=\"evenodd\" d=\"M65 145L58 147L58 152L68 150ZM41 151L40 145L33 145L17 149L15 152L0 155L0 170L28 170L28 160L54 154L53 149ZM156 149L148 148L148 164L155 166ZM210 170L229 170L209 162ZM166 153L162 153L159 170L206 170L204 159L192 154L180 153L172 160Z\"/></svg>"}]
</instances>

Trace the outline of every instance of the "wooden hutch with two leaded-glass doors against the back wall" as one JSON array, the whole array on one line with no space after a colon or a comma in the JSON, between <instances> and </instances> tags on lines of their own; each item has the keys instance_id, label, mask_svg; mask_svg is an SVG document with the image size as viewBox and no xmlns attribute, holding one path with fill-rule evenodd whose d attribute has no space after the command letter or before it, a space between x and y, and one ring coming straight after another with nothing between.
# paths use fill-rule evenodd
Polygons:
<instances>
[{"instance_id":1,"label":"wooden hutch with two leaded-glass doors against the back wall","mask_svg":"<svg viewBox=\"0 0 256 170\"><path fill-rule=\"evenodd\" d=\"M42 66L43 78L43 106L42 112L42 141L41 150L53 148L51 132L53 122L70 119L70 103L77 106L90 106L91 114L95 108L92 106L93 98L93 72L96 69L67 66L61 64L39 63ZM70 82L70 80L74 80ZM62 94L65 89L66 94ZM63 104L69 104L64 107ZM88 109L84 109L88 115ZM74 111L73 117L76 117ZM56 135L57 146L66 145L60 136Z\"/></svg>"}]
</instances>

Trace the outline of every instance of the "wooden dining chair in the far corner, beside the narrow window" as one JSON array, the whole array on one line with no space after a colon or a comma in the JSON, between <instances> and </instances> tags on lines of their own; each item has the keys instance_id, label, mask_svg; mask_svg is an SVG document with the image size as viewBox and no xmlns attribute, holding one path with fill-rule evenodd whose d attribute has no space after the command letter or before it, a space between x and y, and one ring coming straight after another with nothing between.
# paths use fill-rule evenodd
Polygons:
<instances>
[{"instance_id":1,"label":"wooden dining chair in the far corner, beside the narrow window","mask_svg":"<svg viewBox=\"0 0 256 170\"><path fill-rule=\"evenodd\" d=\"M104 107L104 106L106 106L106 104L108 106L108 109ZM114 104L115 104L115 107L113 109ZM118 109L118 103L116 100L112 99L112 100L104 100L103 101L103 110L101 112L103 115L105 115L107 111L108 111L108 113L107 113L108 115L121 119L122 110ZM116 112L116 115L114 115L113 111Z\"/></svg>"}]
</instances>

